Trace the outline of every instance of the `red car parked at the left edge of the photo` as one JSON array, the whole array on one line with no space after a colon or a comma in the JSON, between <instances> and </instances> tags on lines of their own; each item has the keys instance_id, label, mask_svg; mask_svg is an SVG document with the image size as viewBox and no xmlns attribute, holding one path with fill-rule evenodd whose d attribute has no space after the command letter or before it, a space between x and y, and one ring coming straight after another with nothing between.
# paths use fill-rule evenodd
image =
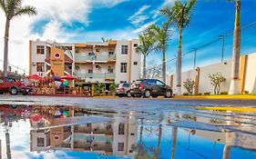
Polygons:
<instances>
[{"instance_id":1,"label":"red car parked at the left edge of the photo","mask_svg":"<svg viewBox=\"0 0 256 159\"><path fill-rule=\"evenodd\" d=\"M14 77L2 76L0 77L0 94L29 94L32 91L32 87Z\"/></svg>"}]
</instances>

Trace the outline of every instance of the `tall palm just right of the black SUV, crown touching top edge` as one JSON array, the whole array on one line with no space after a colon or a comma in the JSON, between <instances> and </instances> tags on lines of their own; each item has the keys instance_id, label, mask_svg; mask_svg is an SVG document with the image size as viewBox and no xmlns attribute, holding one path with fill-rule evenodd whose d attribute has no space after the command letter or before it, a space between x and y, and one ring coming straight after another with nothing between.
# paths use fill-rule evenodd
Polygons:
<instances>
[{"instance_id":1,"label":"tall palm just right of the black SUV, crown touching top edge","mask_svg":"<svg viewBox=\"0 0 256 159\"><path fill-rule=\"evenodd\" d=\"M172 17L176 27L179 29L179 49L177 55L177 94L181 94L181 55L182 55L182 34L185 27L189 25L191 12L197 0L188 0L185 3L177 0L172 7L165 6L160 10L162 15Z\"/></svg>"}]
</instances>

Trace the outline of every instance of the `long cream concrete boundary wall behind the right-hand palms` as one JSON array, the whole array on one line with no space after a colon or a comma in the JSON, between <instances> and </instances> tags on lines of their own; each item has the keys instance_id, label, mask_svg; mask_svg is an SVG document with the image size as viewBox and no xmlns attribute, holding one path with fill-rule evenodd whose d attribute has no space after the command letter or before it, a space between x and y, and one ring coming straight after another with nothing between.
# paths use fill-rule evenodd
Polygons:
<instances>
[{"instance_id":1,"label":"long cream concrete boundary wall behind the right-hand palms","mask_svg":"<svg viewBox=\"0 0 256 159\"><path fill-rule=\"evenodd\" d=\"M245 84L244 91L248 91L250 94L256 94L256 53L248 55L245 71ZM200 80L199 80L199 94L210 93L213 94L214 87L210 84L209 75L220 73L226 78L226 82L220 85L220 92L229 92L230 80L231 80L231 60L217 63L214 65L207 65L200 67ZM182 89L181 94L187 93L183 87L183 82L188 78L195 80L196 71L189 70L182 73ZM240 79L242 77L240 76ZM167 84L170 84L169 77ZM173 75L173 90L176 93L176 75Z\"/></svg>"}]
</instances>

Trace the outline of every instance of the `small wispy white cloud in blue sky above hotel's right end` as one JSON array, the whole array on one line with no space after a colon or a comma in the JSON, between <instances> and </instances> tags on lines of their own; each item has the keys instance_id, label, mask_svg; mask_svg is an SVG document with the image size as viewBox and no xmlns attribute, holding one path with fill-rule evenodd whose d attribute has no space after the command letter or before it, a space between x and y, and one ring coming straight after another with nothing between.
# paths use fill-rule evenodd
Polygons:
<instances>
[{"instance_id":1,"label":"small wispy white cloud in blue sky above hotel's right end","mask_svg":"<svg viewBox=\"0 0 256 159\"><path fill-rule=\"evenodd\" d=\"M138 9L138 12L136 12L134 15L131 15L128 17L128 21L130 21L133 25L141 25L145 20L147 20L149 17L148 15L142 15L144 11L146 11L150 5L143 5Z\"/></svg>"}]
</instances>

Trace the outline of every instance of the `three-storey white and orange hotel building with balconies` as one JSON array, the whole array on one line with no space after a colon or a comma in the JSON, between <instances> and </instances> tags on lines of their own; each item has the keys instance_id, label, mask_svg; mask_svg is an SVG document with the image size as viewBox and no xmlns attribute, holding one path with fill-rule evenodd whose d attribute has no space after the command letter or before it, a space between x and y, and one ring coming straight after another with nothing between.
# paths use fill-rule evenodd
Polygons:
<instances>
[{"instance_id":1,"label":"three-storey white and orange hotel building with balconies","mask_svg":"<svg viewBox=\"0 0 256 159\"><path fill-rule=\"evenodd\" d=\"M132 82L140 76L138 40L96 43L29 42L29 74L75 75L76 84Z\"/></svg>"}]
</instances>

